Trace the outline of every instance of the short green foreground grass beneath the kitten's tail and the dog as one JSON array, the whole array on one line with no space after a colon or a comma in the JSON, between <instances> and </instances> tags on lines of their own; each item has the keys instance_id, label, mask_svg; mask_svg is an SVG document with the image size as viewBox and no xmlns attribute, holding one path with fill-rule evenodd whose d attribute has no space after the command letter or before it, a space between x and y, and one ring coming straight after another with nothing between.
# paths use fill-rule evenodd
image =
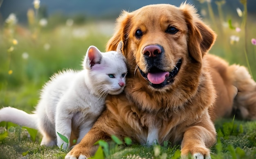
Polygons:
<instances>
[{"instance_id":1,"label":"short green foreground grass beneath the kitten's tail and the dog","mask_svg":"<svg viewBox=\"0 0 256 159\"><path fill-rule=\"evenodd\" d=\"M224 126L229 128L238 125L234 130L234 135L218 135L218 143L211 147L211 157L213 159L254 159L256 158L256 122L240 121L232 119L221 119L216 121L217 131L225 131ZM2 122L3 124L3 122ZM240 132L239 125L242 125L243 132ZM20 128L15 124L7 126L8 137L0 142L1 159L21 158L26 159L63 159L68 150L60 149L57 146L45 147L40 146L41 135L36 136L35 142L29 137L26 129ZM220 137L222 136L222 137ZM180 158L180 146L171 147L166 142L164 146L141 146L137 144L120 145L119 141L108 146L109 149L104 154L110 154L108 159L137 159L137 158L154 158L169 159ZM118 143L120 146L117 146ZM104 147L104 142L100 145ZM105 150L106 151L106 150ZM105 152L104 151L104 152ZM103 154L103 151L99 152ZM98 156L101 156L98 154ZM97 158L102 159L102 158Z\"/></svg>"}]
</instances>

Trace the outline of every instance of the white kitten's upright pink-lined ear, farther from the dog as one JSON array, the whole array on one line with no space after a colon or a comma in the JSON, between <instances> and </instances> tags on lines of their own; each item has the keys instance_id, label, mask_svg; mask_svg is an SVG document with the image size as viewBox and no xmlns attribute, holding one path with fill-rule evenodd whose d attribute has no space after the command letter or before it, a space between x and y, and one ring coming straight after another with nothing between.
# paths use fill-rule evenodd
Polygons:
<instances>
[{"instance_id":1,"label":"white kitten's upright pink-lined ear, farther from the dog","mask_svg":"<svg viewBox=\"0 0 256 159\"><path fill-rule=\"evenodd\" d=\"M91 69L95 64L99 64L101 62L101 58L101 51L95 46L90 46L85 55L83 67L86 69Z\"/></svg>"}]
</instances>

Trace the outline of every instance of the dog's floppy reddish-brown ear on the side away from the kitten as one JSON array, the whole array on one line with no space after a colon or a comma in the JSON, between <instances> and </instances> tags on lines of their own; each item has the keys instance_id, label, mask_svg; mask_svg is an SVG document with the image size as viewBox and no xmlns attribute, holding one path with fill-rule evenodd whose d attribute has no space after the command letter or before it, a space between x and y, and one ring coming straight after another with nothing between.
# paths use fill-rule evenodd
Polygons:
<instances>
[{"instance_id":1,"label":"dog's floppy reddish-brown ear on the side away from the kitten","mask_svg":"<svg viewBox=\"0 0 256 159\"><path fill-rule=\"evenodd\" d=\"M189 54L195 61L201 62L204 54L210 50L215 42L216 34L200 20L196 9L192 5L182 4L180 9L184 13L188 26Z\"/></svg>"}]
</instances>

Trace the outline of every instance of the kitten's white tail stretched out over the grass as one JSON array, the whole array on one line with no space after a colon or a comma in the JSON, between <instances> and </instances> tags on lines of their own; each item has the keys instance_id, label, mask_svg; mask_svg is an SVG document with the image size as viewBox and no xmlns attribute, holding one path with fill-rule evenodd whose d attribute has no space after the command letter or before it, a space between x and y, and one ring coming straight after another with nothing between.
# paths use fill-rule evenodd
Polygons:
<instances>
[{"instance_id":1,"label":"kitten's white tail stretched out over the grass","mask_svg":"<svg viewBox=\"0 0 256 159\"><path fill-rule=\"evenodd\" d=\"M36 114L28 114L25 111L13 107L0 109L0 122L13 122L21 126L38 129L37 120L38 117Z\"/></svg>"}]
</instances>

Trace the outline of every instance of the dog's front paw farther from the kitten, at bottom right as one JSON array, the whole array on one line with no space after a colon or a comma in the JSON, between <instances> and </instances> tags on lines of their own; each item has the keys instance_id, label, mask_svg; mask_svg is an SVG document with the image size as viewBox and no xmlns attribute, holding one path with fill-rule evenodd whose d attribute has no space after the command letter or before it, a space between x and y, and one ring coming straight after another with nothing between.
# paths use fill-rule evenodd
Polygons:
<instances>
[{"instance_id":1,"label":"dog's front paw farther from the kitten, at bottom right","mask_svg":"<svg viewBox=\"0 0 256 159\"><path fill-rule=\"evenodd\" d=\"M192 159L211 159L210 150L204 147L197 147L192 149L182 148L181 158L188 159L189 153L192 155Z\"/></svg>"}]
</instances>

